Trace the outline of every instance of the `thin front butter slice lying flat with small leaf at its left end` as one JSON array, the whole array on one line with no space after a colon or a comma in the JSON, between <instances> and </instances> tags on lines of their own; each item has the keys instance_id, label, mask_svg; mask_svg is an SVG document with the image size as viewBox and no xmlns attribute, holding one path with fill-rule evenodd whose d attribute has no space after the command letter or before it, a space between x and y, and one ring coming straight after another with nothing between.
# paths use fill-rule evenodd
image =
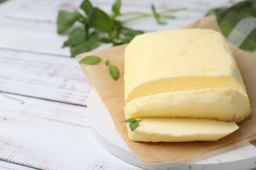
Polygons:
<instances>
[{"instance_id":1,"label":"thin front butter slice lying flat with small leaf at its left end","mask_svg":"<svg viewBox=\"0 0 256 170\"><path fill-rule=\"evenodd\" d=\"M234 122L198 118L143 119L134 131L127 124L129 139L144 142L217 141L238 128Z\"/></svg>"}]
</instances>

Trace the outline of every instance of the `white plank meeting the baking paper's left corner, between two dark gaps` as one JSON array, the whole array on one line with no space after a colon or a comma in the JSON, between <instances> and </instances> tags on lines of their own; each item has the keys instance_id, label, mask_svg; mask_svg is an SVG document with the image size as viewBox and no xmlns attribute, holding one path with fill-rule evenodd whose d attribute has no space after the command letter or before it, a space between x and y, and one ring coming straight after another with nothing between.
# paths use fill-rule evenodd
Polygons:
<instances>
[{"instance_id":1,"label":"white plank meeting the baking paper's left corner, between two dark gaps","mask_svg":"<svg viewBox=\"0 0 256 170\"><path fill-rule=\"evenodd\" d=\"M91 84L74 58L0 50L0 92L86 105Z\"/></svg>"}]
</instances>

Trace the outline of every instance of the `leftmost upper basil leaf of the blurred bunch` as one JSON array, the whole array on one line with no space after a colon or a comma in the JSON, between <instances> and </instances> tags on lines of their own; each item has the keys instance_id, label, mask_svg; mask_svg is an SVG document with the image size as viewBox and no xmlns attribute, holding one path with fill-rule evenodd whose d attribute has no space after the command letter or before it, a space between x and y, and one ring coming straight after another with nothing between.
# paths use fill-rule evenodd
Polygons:
<instances>
[{"instance_id":1,"label":"leftmost upper basil leaf of the blurred bunch","mask_svg":"<svg viewBox=\"0 0 256 170\"><path fill-rule=\"evenodd\" d=\"M80 18L83 18L83 16L75 11L75 12L68 12L65 10L60 10L58 12L58 18L57 18L57 33L62 34L67 29L72 27L76 21L78 21Z\"/></svg>"}]
</instances>

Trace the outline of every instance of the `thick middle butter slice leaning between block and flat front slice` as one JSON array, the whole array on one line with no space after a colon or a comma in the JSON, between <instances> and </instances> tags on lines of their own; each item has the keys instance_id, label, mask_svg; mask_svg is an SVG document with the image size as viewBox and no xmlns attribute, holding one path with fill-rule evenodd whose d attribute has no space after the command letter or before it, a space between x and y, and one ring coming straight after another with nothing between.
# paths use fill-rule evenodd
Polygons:
<instances>
[{"instance_id":1,"label":"thick middle butter slice leaning between block and flat front slice","mask_svg":"<svg viewBox=\"0 0 256 170\"><path fill-rule=\"evenodd\" d=\"M249 112L248 96L234 88L159 93L125 105L126 118L190 117L240 122Z\"/></svg>"}]
</instances>

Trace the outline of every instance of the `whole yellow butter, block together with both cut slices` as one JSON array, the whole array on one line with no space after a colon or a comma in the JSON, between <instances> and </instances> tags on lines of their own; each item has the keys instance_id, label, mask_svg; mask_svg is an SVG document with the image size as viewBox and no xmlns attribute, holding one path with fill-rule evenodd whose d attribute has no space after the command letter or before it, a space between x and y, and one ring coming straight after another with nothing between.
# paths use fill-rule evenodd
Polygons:
<instances>
[{"instance_id":1,"label":"whole yellow butter, block together with both cut slices","mask_svg":"<svg viewBox=\"0 0 256 170\"><path fill-rule=\"evenodd\" d=\"M128 128L133 141L214 141L250 113L232 51L210 29L138 35L125 48L124 80L125 116L143 119Z\"/></svg>"}]
</instances>

